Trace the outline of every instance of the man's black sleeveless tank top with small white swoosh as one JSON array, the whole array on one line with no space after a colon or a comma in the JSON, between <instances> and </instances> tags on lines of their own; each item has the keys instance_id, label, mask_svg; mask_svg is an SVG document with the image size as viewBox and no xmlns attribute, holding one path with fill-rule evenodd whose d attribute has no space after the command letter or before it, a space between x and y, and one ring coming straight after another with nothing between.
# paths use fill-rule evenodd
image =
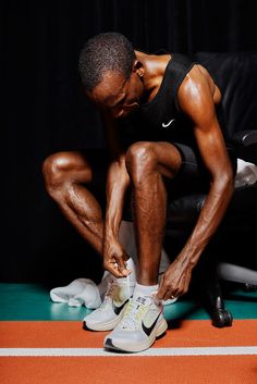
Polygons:
<instances>
[{"instance_id":1,"label":"man's black sleeveless tank top with small white swoosh","mask_svg":"<svg viewBox=\"0 0 257 384\"><path fill-rule=\"evenodd\" d=\"M180 85L194 65L195 62L188 57L172 54L155 98L120 120L121 139L125 147L138 140L173 141L196 147L192 122L179 111L176 104ZM218 114L221 115L220 112Z\"/></svg>"}]
</instances>

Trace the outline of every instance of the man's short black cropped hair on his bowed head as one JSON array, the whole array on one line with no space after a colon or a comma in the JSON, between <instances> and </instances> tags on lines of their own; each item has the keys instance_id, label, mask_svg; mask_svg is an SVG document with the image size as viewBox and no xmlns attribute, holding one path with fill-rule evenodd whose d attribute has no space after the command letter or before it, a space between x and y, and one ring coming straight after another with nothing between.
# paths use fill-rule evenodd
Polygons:
<instances>
[{"instance_id":1,"label":"man's short black cropped hair on his bowed head","mask_svg":"<svg viewBox=\"0 0 257 384\"><path fill-rule=\"evenodd\" d=\"M134 60L134 48L122 34L108 32L91 37L81 50L78 59L78 73L84 89L90 91L95 88L107 71L128 78Z\"/></svg>"}]
</instances>

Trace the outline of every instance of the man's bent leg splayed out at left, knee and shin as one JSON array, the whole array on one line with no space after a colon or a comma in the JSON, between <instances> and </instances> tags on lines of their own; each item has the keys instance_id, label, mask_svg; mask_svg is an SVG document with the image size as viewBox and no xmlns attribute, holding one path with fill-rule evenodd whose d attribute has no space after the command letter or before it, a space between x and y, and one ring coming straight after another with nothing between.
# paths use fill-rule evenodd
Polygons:
<instances>
[{"instance_id":1,"label":"man's bent leg splayed out at left, knee and shin","mask_svg":"<svg viewBox=\"0 0 257 384\"><path fill-rule=\"evenodd\" d=\"M86 157L77 151L51 154L44 162L42 174L48 194L65 218L102 255L102 210L87 187L94 174Z\"/></svg>"}]
</instances>

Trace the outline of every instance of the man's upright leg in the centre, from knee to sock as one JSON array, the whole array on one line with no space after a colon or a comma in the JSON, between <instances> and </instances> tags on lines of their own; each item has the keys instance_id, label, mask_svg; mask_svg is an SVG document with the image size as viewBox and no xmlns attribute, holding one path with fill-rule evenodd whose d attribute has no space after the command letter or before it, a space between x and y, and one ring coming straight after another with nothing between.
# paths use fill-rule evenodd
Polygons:
<instances>
[{"instance_id":1,"label":"man's upright leg in the centre, from knee to sock","mask_svg":"<svg viewBox=\"0 0 257 384\"><path fill-rule=\"evenodd\" d=\"M134 220L138 251L138 283L154 285L158 271L167 216L163 177L173 178L182 158L169 143L136 143L126 153L134 191Z\"/></svg>"}]
</instances>

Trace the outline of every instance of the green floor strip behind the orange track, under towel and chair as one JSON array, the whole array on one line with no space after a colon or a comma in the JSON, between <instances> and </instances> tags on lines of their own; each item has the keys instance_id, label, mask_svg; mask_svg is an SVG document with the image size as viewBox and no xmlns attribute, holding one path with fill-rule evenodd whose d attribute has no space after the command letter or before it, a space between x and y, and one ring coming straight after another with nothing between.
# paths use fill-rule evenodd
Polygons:
<instances>
[{"instance_id":1,"label":"green floor strip behind the orange track, under towel and chair","mask_svg":"<svg viewBox=\"0 0 257 384\"><path fill-rule=\"evenodd\" d=\"M0 284L0 321L82 321L90 312L52 302L49 289L40 284ZM257 319L257 292L235 289L224 297L234 319ZM209 314L194 299L181 298L164 307L167 320L208 320Z\"/></svg>"}]
</instances>

